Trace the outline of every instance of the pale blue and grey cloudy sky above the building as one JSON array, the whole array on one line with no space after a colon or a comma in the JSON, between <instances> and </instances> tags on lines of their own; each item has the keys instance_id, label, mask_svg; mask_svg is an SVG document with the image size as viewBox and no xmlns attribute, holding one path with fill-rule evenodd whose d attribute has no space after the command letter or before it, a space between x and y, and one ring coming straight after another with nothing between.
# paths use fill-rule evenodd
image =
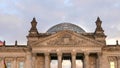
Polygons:
<instances>
[{"instance_id":1,"label":"pale blue and grey cloudy sky above the building","mask_svg":"<svg viewBox=\"0 0 120 68\"><path fill-rule=\"evenodd\" d=\"M33 17L39 32L62 22L94 32L98 16L103 22L107 44L120 41L120 0L0 0L0 40L26 44Z\"/></svg>"}]
</instances>

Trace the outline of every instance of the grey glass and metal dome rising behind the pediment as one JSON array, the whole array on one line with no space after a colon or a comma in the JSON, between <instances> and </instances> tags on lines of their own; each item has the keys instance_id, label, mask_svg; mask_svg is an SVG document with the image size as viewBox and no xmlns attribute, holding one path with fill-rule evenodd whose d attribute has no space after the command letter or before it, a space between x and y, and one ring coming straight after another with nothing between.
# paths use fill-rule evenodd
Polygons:
<instances>
[{"instance_id":1,"label":"grey glass and metal dome rising behind the pediment","mask_svg":"<svg viewBox=\"0 0 120 68\"><path fill-rule=\"evenodd\" d=\"M85 31L81 27L79 27L75 24L71 24L71 23L57 24L57 25L51 27L50 29L48 29L47 33L56 33L56 32L62 31L62 30L70 30L70 31L73 31L76 33L85 33Z\"/></svg>"}]
</instances>

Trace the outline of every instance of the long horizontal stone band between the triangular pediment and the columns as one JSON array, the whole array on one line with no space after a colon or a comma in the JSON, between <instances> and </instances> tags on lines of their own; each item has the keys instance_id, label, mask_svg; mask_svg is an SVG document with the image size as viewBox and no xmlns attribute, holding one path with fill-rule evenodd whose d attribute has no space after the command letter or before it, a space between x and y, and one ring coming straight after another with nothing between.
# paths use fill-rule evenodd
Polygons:
<instances>
[{"instance_id":1,"label":"long horizontal stone band between the triangular pediment and the columns","mask_svg":"<svg viewBox=\"0 0 120 68\"><path fill-rule=\"evenodd\" d=\"M101 48L100 47L95 47L95 48L92 48L92 47L34 47L32 49L32 53L44 53L44 52L51 52L51 53L56 53L57 51L60 51L60 52L64 52L64 53L70 53L72 52L73 50L75 50L76 52L78 53L83 53L83 52L101 52Z\"/></svg>"}]
</instances>

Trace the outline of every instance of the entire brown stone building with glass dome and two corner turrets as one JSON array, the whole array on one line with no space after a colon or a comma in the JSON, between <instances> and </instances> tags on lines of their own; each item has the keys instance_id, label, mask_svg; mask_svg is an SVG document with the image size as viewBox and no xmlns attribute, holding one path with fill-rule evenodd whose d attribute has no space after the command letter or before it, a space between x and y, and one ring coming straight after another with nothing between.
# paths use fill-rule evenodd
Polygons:
<instances>
[{"instance_id":1,"label":"entire brown stone building with glass dome and two corner turrets","mask_svg":"<svg viewBox=\"0 0 120 68\"><path fill-rule=\"evenodd\" d=\"M39 33L33 18L27 35L27 45L0 46L0 68L51 68L57 60L62 68L63 60L70 60L71 68L120 68L120 45L106 45L106 35L98 17L94 32L85 32L72 23L57 24L45 33ZM78 67L77 60L82 66Z\"/></svg>"}]
</instances>

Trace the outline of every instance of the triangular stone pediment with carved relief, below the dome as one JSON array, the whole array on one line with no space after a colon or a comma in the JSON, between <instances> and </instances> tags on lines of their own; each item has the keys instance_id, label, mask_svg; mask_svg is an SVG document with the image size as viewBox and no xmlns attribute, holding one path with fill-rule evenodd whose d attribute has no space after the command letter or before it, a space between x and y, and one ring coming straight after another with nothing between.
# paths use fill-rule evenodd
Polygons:
<instances>
[{"instance_id":1,"label":"triangular stone pediment with carved relief, below the dome","mask_svg":"<svg viewBox=\"0 0 120 68\"><path fill-rule=\"evenodd\" d=\"M49 45L103 46L104 44L72 31L61 31L44 39L40 39L32 44L32 46L49 46Z\"/></svg>"}]
</instances>

